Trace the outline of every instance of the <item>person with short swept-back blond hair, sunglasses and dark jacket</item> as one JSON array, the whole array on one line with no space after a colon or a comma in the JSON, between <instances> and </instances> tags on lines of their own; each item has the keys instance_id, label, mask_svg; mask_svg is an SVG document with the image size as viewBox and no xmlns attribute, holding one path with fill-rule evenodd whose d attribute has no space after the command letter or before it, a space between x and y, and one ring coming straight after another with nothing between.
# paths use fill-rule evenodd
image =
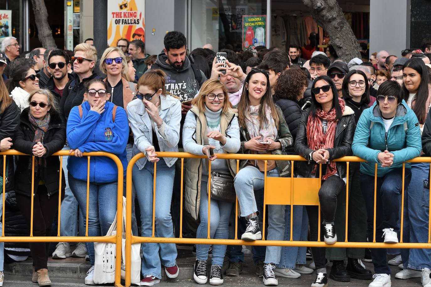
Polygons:
<instances>
[{"instance_id":1,"label":"person with short swept-back blond hair, sunglasses and dark jacket","mask_svg":"<svg viewBox=\"0 0 431 287\"><path fill-rule=\"evenodd\" d=\"M94 73L97 62L97 50L94 46L81 43L75 46L74 56L71 57L75 79L66 84L63 89L59 108L65 123L73 107L81 105L84 101L84 93L87 91L85 83L101 78Z\"/></svg>"}]
</instances>

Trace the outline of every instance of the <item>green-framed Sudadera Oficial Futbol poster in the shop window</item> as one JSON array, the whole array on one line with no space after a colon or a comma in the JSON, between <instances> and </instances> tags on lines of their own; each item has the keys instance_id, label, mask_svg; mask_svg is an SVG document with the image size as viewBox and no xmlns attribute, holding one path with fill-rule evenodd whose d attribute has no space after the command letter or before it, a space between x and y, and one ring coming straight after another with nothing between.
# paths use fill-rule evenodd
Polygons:
<instances>
[{"instance_id":1,"label":"green-framed Sudadera Oficial Futbol poster in the shop window","mask_svg":"<svg viewBox=\"0 0 431 287\"><path fill-rule=\"evenodd\" d=\"M265 45L266 15L243 16L243 50Z\"/></svg>"}]
</instances>

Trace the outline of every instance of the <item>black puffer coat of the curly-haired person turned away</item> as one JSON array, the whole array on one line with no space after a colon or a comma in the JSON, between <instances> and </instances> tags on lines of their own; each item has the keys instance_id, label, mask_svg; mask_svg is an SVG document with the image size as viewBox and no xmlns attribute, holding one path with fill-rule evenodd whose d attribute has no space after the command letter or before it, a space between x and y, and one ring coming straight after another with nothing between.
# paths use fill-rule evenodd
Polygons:
<instances>
[{"instance_id":1,"label":"black puffer coat of the curly-haired person turned away","mask_svg":"<svg viewBox=\"0 0 431 287\"><path fill-rule=\"evenodd\" d=\"M292 135L293 141L295 142L297 127L302 116L300 106L297 102L289 99L276 99L275 104L281 108L284 120L286 120L290 134ZM295 149L293 146L290 146L286 148L285 152L286 154L295 154Z\"/></svg>"}]
</instances>

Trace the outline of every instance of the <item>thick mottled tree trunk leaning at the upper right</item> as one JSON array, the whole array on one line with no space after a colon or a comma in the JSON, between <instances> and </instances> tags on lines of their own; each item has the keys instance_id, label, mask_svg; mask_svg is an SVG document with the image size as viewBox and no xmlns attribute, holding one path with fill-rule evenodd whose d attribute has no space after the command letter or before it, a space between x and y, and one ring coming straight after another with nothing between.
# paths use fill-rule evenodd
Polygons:
<instances>
[{"instance_id":1,"label":"thick mottled tree trunk leaning at the upper right","mask_svg":"<svg viewBox=\"0 0 431 287\"><path fill-rule=\"evenodd\" d=\"M328 32L330 43L334 46L338 58L349 62L361 59L359 44L347 23L337 0L302 0L311 12L314 21Z\"/></svg>"}]
</instances>

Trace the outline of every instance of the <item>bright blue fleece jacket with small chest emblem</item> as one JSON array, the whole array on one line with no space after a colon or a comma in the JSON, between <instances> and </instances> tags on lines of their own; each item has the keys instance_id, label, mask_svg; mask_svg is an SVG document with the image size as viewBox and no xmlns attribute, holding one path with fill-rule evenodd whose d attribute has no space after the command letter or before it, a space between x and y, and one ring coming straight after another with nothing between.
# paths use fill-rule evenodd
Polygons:
<instances>
[{"instance_id":1,"label":"bright blue fleece jacket with small chest emblem","mask_svg":"<svg viewBox=\"0 0 431 287\"><path fill-rule=\"evenodd\" d=\"M123 164L123 175L126 173L126 144L129 124L126 111L116 109L115 122L112 121L114 104L106 102L105 111L99 114L90 110L88 102L82 104L82 118L78 106L73 107L67 120L67 142L71 149L82 152L106 151L116 154ZM87 157L70 156L67 169L72 177L87 181ZM90 158L90 182L106 183L118 179L117 165L109 157Z\"/></svg>"}]
</instances>

